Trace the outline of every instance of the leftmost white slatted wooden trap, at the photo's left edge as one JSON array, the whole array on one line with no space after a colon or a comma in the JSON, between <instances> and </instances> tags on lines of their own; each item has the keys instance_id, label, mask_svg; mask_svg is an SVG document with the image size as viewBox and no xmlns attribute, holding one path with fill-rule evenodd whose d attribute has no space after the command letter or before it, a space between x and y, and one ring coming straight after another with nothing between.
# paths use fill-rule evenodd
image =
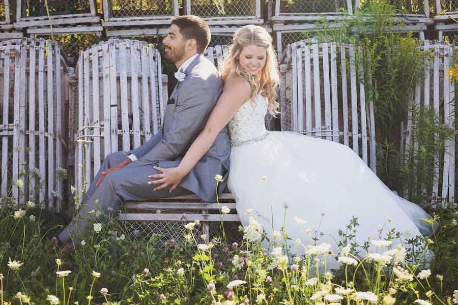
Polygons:
<instances>
[{"instance_id":1,"label":"leftmost white slatted wooden trap, at the photo's left edge","mask_svg":"<svg viewBox=\"0 0 458 305\"><path fill-rule=\"evenodd\" d=\"M24 38L5 42L0 56L0 194L19 198L20 204L47 199L47 207L59 211L60 196L54 195L62 194L63 182L56 168L64 164L62 135L69 88L61 49L50 40ZM34 174L36 168L41 177Z\"/></svg>"}]
</instances>

